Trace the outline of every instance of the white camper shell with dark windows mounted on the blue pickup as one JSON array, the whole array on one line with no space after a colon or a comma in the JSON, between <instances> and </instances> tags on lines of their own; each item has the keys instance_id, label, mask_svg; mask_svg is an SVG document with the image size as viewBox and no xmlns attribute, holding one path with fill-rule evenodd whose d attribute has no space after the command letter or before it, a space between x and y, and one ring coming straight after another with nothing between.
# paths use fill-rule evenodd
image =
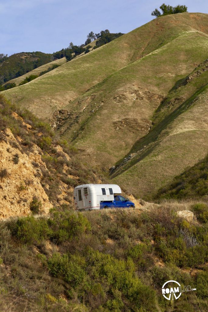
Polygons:
<instances>
[{"instance_id":1,"label":"white camper shell with dark windows mounted on the blue pickup","mask_svg":"<svg viewBox=\"0 0 208 312\"><path fill-rule=\"evenodd\" d=\"M114 195L121 194L116 184L83 184L75 187L73 192L75 209L100 209L100 202L114 200Z\"/></svg>"}]
</instances>

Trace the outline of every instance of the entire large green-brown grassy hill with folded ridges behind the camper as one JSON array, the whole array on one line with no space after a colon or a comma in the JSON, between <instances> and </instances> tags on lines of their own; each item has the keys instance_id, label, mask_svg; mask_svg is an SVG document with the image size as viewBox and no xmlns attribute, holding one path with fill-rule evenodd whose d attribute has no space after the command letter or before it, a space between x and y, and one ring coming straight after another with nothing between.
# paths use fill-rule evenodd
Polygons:
<instances>
[{"instance_id":1,"label":"entire large green-brown grassy hill with folded ridges behind the camper","mask_svg":"<svg viewBox=\"0 0 208 312\"><path fill-rule=\"evenodd\" d=\"M207 14L163 16L3 94L151 198L208 152L207 48Z\"/></svg>"}]
</instances>

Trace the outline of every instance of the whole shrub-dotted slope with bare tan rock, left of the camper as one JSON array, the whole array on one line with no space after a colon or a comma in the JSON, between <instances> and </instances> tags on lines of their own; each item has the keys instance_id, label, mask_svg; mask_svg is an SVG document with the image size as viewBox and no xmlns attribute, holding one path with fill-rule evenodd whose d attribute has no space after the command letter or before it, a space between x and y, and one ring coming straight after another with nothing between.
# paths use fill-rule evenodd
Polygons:
<instances>
[{"instance_id":1,"label":"whole shrub-dotted slope with bare tan rock, left of the camper","mask_svg":"<svg viewBox=\"0 0 208 312\"><path fill-rule=\"evenodd\" d=\"M104 181L77 153L48 124L0 95L0 219L73 208L76 185Z\"/></svg>"}]
</instances>

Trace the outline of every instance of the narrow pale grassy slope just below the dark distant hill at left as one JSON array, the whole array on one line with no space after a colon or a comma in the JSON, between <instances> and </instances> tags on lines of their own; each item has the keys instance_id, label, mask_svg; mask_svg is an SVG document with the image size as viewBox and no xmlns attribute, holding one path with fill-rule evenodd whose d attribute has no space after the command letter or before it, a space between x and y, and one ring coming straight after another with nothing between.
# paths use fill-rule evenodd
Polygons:
<instances>
[{"instance_id":1,"label":"narrow pale grassy slope just below the dark distant hill at left","mask_svg":"<svg viewBox=\"0 0 208 312\"><path fill-rule=\"evenodd\" d=\"M17 78L9 80L7 83L16 83L16 85L18 86L26 77L28 77L30 75L37 75L37 76L39 76L42 71L48 70L49 67L52 67L53 65L62 65L62 64L65 64L65 63L66 63L66 59L65 59L65 57L63 57L62 59L59 59L59 60L56 60L56 61L52 61L52 62L49 62L49 63L44 64L42 66L39 66L39 67L37 67L37 68L27 72L26 74L24 74L22 76L19 76Z\"/></svg>"}]
</instances>

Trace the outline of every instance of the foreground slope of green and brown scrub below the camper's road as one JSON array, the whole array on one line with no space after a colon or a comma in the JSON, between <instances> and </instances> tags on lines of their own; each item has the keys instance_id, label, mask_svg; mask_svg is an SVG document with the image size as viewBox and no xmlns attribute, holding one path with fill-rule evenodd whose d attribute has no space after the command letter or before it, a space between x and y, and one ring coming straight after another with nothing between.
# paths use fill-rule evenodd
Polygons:
<instances>
[{"instance_id":1,"label":"foreground slope of green and brown scrub below the camper's road","mask_svg":"<svg viewBox=\"0 0 208 312\"><path fill-rule=\"evenodd\" d=\"M201 205L186 203L194 212ZM1 309L207 311L208 223L180 219L176 206L78 214L59 207L48 219L1 222ZM196 291L169 302L161 288L170 279Z\"/></svg>"}]
</instances>

